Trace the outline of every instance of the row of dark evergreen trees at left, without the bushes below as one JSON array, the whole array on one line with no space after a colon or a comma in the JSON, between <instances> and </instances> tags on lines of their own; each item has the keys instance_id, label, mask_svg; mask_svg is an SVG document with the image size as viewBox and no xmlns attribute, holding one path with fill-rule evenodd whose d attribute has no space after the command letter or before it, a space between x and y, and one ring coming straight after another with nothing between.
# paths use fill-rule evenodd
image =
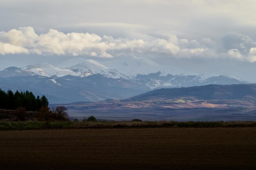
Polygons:
<instances>
[{"instance_id":1,"label":"row of dark evergreen trees at left, without the bushes below","mask_svg":"<svg viewBox=\"0 0 256 170\"><path fill-rule=\"evenodd\" d=\"M25 107L27 111L38 111L41 107L48 107L48 100L45 96L35 97L32 92L13 93L0 89L0 109L15 110L18 107Z\"/></svg>"}]
</instances>

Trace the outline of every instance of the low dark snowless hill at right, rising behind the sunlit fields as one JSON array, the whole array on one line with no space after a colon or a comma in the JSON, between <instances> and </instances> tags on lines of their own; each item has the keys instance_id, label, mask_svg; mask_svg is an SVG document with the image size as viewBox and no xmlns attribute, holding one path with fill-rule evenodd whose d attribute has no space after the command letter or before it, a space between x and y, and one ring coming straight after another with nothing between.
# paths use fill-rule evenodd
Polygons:
<instances>
[{"instance_id":1,"label":"low dark snowless hill at right, rising behind the sunlit fields","mask_svg":"<svg viewBox=\"0 0 256 170\"><path fill-rule=\"evenodd\" d=\"M132 98L129 101L193 97L203 100L247 99L256 100L256 84L205 85L186 88L156 89Z\"/></svg>"}]
</instances>

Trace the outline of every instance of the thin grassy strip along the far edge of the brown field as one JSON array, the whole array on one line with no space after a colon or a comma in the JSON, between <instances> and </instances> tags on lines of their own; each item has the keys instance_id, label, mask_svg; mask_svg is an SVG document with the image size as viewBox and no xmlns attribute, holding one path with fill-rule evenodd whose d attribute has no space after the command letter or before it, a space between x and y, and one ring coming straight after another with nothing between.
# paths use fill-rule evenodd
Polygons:
<instances>
[{"instance_id":1,"label":"thin grassy strip along the far edge of the brown field","mask_svg":"<svg viewBox=\"0 0 256 170\"><path fill-rule=\"evenodd\" d=\"M255 121L176 122L176 121L22 121L0 122L0 130L90 129L90 128L245 128Z\"/></svg>"}]
</instances>

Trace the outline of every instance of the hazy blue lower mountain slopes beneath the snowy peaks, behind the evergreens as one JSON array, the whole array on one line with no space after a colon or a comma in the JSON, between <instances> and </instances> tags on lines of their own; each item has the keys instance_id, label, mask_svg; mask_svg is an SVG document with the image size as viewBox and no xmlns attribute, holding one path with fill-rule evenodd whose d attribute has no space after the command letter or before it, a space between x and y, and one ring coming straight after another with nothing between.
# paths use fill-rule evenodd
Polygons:
<instances>
[{"instance_id":1,"label":"hazy blue lower mountain slopes beneath the snowy peaks, behind the evergreens","mask_svg":"<svg viewBox=\"0 0 256 170\"><path fill-rule=\"evenodd\" d=\"M45 95L50 103L75 101L101 101L128 98L149 91L144 85L126 79L107 78L100 74L87 77L44 76L0 77L0 88L12 91L29 90L36 95Z\"/></svg>"}]
</instances>

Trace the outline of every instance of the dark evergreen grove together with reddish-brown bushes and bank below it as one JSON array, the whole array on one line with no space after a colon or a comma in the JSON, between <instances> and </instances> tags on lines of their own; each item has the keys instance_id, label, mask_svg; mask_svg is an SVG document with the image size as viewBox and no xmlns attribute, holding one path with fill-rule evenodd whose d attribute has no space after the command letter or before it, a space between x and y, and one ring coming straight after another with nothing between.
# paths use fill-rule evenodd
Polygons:
<instances>
[{"instance_id":1,"label":"dark evergreen grove together with reddish-brown bushes and bank below it","mask_svg":"<svg viewBox=\"0 0 256 170\"><path fill-rule=\"evenodd\" d=\"M0 89L0 120L2 121L69 121L64 106L48 107L45 96L35 97L32 92L13 93Z\"/></svg>"}]
</instances>

